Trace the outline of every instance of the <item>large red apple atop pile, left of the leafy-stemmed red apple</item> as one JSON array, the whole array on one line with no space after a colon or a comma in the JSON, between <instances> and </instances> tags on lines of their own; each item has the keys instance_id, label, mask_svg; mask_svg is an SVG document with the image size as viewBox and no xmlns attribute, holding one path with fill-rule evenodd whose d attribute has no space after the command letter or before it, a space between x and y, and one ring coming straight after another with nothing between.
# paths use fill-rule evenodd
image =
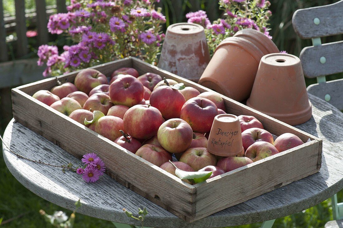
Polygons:
<instances>
[{"instance_id":1,"label":"large red apple atop pile, left of the leafy-stemmed red apple","mask_svg":"<svg viewBox=\"0 0 343 228\"><path fill-rule=\"evenodd\" d=\"M112 82L109 96L115 105L132 107L143 99L144 87L134 76L125 75Z\"/></svg>"}]
</instances>

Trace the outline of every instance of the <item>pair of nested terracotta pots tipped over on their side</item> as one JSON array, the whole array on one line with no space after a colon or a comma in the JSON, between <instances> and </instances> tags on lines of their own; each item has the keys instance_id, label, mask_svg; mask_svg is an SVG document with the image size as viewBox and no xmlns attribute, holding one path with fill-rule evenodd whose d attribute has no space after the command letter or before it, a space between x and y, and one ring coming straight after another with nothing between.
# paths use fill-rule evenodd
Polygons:
<instances>
[{"instance_id":1,"label":"pair of nested terracotta pots tipped over on their side","mask_svg":"<svg viewBox=\"0 0 343 228\"><path fill-rule=\"evenodd\" d=\"M280 51L257 30L242 29L237 33L218 45L199 84L243 101L250 95L262 56Z\"/></svg>"}]
</instances>

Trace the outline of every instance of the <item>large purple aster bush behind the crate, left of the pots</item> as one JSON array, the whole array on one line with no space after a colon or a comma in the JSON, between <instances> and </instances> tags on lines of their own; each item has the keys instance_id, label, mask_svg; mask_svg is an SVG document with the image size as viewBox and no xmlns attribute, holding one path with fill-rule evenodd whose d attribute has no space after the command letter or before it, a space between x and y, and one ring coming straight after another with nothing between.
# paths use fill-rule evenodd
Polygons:
<instances>
[{"instance_id":1,"label":"large purple aster bush behind the crate, left of the pots","mask_svg":"<svg viewBox=\"0 0 343 228\"><path fill-rule=\"evenodd\" d=\"M101 63L139 57L156 64L166 22L159 0L71 0L68 13L51 15L51 34L67 34L72 46L38 48L38 65L46 64L44 76L56 76Z\"/></svg>"}]
</instances>

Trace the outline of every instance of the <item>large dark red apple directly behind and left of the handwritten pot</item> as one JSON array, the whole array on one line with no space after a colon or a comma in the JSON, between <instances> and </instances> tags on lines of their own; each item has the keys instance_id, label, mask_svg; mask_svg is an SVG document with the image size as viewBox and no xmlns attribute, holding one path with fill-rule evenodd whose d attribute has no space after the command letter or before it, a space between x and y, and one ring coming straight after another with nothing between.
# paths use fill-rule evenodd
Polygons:
<instances>
[{"instance_id":1,"label":"large dark red apple directly behind and left of the handwritten pot","mask_svg":"<svg viewBox=\"0 0 343 228\"><path fill-rule=\"evenodd\" d=\"M189 123L194 132L206 133L211 131L216 115L218 115L218 109L211 100L193 97L182 107L180 118Z\"/></svg>"}]
</instances>

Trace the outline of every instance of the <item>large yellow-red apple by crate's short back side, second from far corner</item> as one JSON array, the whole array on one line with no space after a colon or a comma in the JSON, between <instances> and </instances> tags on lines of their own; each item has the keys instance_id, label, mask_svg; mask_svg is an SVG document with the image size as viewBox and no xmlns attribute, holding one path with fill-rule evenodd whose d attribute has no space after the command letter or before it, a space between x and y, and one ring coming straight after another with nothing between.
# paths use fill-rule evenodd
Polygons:
<instances>
[{"instance_id":1,"label":"large yellow-red apple by crate's short back side, second from far corner","mask_svg":"<svg viewBox=\"0 0 343 228\"><path fill-rule=\"evenodd\" d=\"M107 77L94 69L84 69L76 74L75 86L82 92L89 94L93 88L107 84Z\"/></svg>"}]
</instances>

